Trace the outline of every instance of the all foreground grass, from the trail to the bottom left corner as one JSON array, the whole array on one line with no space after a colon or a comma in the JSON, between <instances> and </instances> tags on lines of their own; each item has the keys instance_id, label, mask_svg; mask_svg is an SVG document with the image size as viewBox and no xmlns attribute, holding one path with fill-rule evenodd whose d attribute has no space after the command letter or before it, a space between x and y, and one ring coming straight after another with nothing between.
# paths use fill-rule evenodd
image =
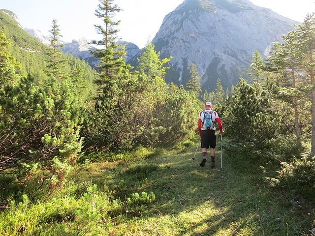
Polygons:
<instances>
[{"instance_id":1,"label":"all foreground grass, from the trail to the bottom left corner","mask_svg":"<svg viewBox=\"0 0 315 236\"><path fill-rule=\"evenodd\" d=\"M137 162L91 163L79 174L77 184L81 182L83 193L85 184L91 186L94 183L97 188L90 188L90 195L86 193L84 199L77 197L71 204L63 203L67 208L57 212L57 215L66 212L61 218L71 216L71 220L49 220L50 228L41 225L42 229L49 229L46 232L50 233L46 234L38 233L42 232L38 229L39 224L33 224L34 229L23 235L312 235L314 202L270 187L263 180L259 167L250 161L242 161L233 153L223 150L221 169L220 151L217 151L217 166L211 169L209 160L205 167L200 167L200 151L192 160L194 151L195 146L185 151L164 151ZM138 202L127 203L132 194L141 196L142 192L153 192L155 200L145 203L138 199ZM79 207L78 201L92 208L71 209L73 205ZM43 207L43 204L37 204ZM110 207L105 209L105 205ZM30 206L29 210L34 208ZM88 213L87 217L79 217L84 212ZM94 212L94 218L91 218L91 212ZM56 212L49 212L50 218L52 215ZM40 217L33 217L32 221L40 221ZM7 219L8 216L2 214L0 220ZM84 228L87 225L89 228ZM98 230L92 230L93 227ZM54 229L60 229L59 233Z\"/></svg>"}]
</instances>

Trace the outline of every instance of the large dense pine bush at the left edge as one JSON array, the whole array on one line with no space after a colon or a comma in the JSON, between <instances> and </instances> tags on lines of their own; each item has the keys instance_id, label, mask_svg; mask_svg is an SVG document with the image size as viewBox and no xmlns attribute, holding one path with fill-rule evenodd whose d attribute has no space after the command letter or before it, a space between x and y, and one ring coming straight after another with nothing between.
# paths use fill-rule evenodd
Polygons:
<instances>
[{"instance_id":1,"label":"large dense pine bush at the left edge","mask_svg":"<svg viewBox=\"0 0 315 236\"><path fill-rule=\"evenodd\" d=\"M81 150L75 89L54 80L39 89L28 77L0 94L0 171L59 185Z\"/></svg>"}]
</instances>

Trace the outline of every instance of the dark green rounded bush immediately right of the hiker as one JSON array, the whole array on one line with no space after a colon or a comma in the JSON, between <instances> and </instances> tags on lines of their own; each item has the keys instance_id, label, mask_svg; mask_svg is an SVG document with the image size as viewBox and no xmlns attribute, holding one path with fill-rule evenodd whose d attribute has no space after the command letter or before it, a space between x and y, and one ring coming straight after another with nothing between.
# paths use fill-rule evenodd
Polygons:
<instances>
[{"instance_id":1,"label":"dark green rounded bush immediately right of the hiker","mask_svg":"<svg viewBox=\"0 0 315 236\"><path fill-rule=\"evenodd\" d=\"M225 101L223 114L226 134L239 142L253 142L263 148L274 135L276 119L269 109L266 92L259 84L249 85L240 79L232 97Z\"/></svg>"}]
</instances>

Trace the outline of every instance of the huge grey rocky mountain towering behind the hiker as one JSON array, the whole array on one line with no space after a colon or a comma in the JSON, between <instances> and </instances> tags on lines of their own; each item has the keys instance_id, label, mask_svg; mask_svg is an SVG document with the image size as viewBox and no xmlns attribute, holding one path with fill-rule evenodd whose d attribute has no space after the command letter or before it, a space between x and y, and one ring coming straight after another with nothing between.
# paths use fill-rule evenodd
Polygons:
<instances>
[{"instance_id":1,"label":"huge grey rocky mountain towering behind the hiker","mask_svg":"<svg viewBox=\"0 0 315 236\"><path fill-rule=\"evenodd\" d=\"M193 62L203 89L214 90L218 78L226 89L247 77L255 50L267 56L294 24L248 0L185 0L165 16L153 43L162 58L173 57L167 82L186 85Z\"/></svg>"}]
</instances>

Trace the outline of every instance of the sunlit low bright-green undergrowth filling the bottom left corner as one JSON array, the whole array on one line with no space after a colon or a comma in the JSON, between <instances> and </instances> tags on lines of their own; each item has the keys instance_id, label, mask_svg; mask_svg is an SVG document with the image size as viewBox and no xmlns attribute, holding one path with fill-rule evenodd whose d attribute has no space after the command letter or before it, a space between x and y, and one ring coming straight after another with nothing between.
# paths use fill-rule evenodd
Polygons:
<instances>
[{"instance_id":1,"label":"sunlit low bright-green undergrowth filling the bottom left corner","mask_svg":"<svg viewBox=\"0 0 315 236\"><path fill-rule=\"evenodd\" d=\"M104 229L100 222L118 207L111 204L108 193L99 192L96 185L88 187L87 192L78 199L65 196L36 205L32 205L24 195L23 202L12 201L8 210L1 214L0 234L103 235Z\"/></svg>"}]
</instances>

